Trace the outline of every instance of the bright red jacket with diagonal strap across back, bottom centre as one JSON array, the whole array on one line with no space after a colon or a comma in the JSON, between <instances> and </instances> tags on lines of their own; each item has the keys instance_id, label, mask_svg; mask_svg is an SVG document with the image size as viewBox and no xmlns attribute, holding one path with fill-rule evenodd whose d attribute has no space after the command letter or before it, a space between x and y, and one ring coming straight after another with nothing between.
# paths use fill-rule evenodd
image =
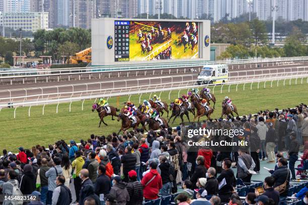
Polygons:
<instances>
[{"instance_id":1,"label":"bright red jacket with diagonal strap across back, bottom centre","mask_svg":"<svg viewBox=\"0 0 308 205\"><path fill-rule=\"evenodd\" d=\"M146 183L151 180L153 176L156 177L149 182L147 185ZM151 169L150 172L144 175L141 180L141 184L143 185L143 196L145 199L156 199L158 198L158 193L160 189L163 187L163 181L161 175L157 172L156 169Z\"/></svg>"}]
</instances>

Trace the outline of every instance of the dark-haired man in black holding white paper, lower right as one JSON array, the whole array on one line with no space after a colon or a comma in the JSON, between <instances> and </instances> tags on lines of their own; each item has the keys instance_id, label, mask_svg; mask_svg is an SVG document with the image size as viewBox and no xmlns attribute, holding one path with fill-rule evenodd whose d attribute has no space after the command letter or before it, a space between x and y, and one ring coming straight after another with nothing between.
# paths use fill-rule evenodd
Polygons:
<instances>
[{"instance_id":1,"label":"dark-haired man in black holding white paper, lower right","mask_svg":"<svg viewBox=\"0 0 308 205\"><path fill-rule=\"evenodd\" d=\"M234 186L236 185L234 172L232 169L230 169L230 167L230 160L223 161L223 171L217 177L218 183L222 181L222 184L225 184L218 189L218 196L220 197L222 203L226 203L229 201L230 195L234 191Z\"/></svg>"}]
</instances>

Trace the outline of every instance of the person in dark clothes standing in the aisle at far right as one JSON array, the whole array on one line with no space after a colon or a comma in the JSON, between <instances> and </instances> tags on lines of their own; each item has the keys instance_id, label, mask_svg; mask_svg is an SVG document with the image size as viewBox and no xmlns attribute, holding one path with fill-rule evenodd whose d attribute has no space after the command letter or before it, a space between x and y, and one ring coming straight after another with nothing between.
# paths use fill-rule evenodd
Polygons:
<instances>
[{"instance_id":1,"label":"person in dark clothes standing in the aisle at far right","mask_svg":"<svg viewBox=\"0 0 308 205\"><path fill-rule=\"evenodd\" d=\"M290 133L290 140L291 140L291 142L290 142L290 150L288 152L288 155L289 155L289 169L290 169L291 174L292 174L291 180L294 180L295 179L294 165L295 165L295 162L298 159L298 151L299 151L299 144L297 142L296 133L295 132Z\"/></svg>"}]
</instances>

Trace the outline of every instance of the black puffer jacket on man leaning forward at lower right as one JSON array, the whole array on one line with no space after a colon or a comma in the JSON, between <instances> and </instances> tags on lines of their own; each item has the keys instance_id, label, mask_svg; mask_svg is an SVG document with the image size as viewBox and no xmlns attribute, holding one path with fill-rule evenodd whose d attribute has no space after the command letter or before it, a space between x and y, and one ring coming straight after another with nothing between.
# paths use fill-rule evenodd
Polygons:
<instances>
[{"instance_id":1,"label":"black puffer jacket on man leaning forward at lower right","mask_svg":"<svg viewBox=\"0 0 308 205\"><path fill-rule=\"evenodd\" d=\"M288 169L287 166L281 166L281 167L278 167L274 171L274 173L271 175L271 177L275 178L275 185L274 185L274 187L283 184L285 182L285 180L287 180L287 188L286 188L286 190L283 193L280 194L280 196L286 196L288 194L290 174L291 174L290 170Z\"/></svg>"}]
</instances>

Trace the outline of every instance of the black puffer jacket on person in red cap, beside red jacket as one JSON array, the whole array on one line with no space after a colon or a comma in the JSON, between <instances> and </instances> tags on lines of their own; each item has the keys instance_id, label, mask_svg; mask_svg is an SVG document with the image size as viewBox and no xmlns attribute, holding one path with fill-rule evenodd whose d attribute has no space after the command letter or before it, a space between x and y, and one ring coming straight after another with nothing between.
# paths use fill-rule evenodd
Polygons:
<instances>
[{"instance_id":1,"label":"black puffer jacket on person in red cap, beside red jacket","mask_svg":"<svg viewBox=\"0 0 308 205\"><path fill-rule=\"evenodd\" d=\"M128 205L141 205L143 201L143 186L139 181L129 181L127 183L127 191L130 200Z\"/></svg>"}]
</instances>

